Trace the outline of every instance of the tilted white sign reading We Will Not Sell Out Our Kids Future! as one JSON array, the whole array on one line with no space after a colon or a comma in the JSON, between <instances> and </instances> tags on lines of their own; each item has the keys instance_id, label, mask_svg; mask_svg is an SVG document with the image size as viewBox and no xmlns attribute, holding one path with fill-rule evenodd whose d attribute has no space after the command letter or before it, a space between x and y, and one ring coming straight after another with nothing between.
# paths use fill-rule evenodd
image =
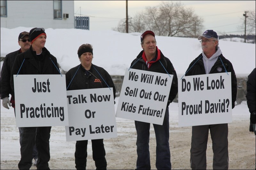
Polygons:
<instances>
[{"instance_id":1,"label":"tilted white sign reading We Will Not Sell Out Our Kids Future!","mask_svg":"<svg viewBox=\"0 0 256 170\"><path fill-rule=\"evenodd\" d=\"M172 74L126 69L116 117L163 124Z\"/></svg>"}]
</instances>

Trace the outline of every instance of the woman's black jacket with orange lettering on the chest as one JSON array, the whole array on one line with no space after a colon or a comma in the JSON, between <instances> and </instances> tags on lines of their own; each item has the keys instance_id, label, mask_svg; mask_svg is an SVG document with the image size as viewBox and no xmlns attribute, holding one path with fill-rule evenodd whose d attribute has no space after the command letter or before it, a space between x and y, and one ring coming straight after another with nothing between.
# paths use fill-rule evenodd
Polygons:
<instances>
[{"instance_id":1,"label":"woman's black jacket with orange lettering on the chest","mask_svg":"<svg viewBox=\"0 0 256 170\"><path fill-rule=\"evenodd\" d=\"M68 70L65 75L67 90L108 88L109 86L113 88L114 99L116 98L116 88L112 78L102 67L92 64L91 69L87 71L79 64Z\"/></svg>"}]
</instances>

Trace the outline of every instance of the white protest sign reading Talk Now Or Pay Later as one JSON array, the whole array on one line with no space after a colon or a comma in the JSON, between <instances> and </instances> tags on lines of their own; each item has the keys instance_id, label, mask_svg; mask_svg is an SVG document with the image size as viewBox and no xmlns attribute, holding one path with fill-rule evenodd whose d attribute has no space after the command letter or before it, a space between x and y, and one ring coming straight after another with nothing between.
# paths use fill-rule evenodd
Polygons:
<instances>
[{"instance_id":1,"label":"white protest sign reading Talk Now Or Pay Later","mask_svg":"<svg viewBox=\"0 0 256 170\"><path fill-rule=\"evenodd\" d=\"M116 138L113 88L67 91L67 141Z\"/></svg>"}]
</instances>

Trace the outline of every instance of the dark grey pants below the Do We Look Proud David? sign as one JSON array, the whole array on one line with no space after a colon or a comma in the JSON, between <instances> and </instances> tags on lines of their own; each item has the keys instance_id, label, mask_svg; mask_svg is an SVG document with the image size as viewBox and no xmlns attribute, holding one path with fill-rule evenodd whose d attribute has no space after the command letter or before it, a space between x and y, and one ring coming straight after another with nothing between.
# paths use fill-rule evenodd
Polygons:
<instances>
[{"instance_id":1,"label":"dark grey pants below the Do We Look Proud David? sign","mask_svg":"<svg viewBox=\"0 0 256 170\"><path fill-rule=\"evenodd\" d=\"M212 138L213 169L228 169L228 124L192 126L190 166L206 169L209 129Z\"/></svg>"}]
</instances>

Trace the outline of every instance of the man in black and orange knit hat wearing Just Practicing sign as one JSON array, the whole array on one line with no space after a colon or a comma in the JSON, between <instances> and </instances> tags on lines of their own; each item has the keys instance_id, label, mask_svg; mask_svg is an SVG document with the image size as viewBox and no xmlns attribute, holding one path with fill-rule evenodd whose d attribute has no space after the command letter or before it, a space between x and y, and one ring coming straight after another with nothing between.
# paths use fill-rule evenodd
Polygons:
<instances>
[{"instance_id":1,"label":"man in black and orange knit hat wearing Just Practicing sign","mask_svg":"<svg viewBox=\"0 0 256 170\"><path fill-rule=\"evenodd\" d=\"M11 87L14 91L14 74L60 74L57 59L44 47L46 42L46 33L44 28L33 28L29 32L31 42L30 48L19 55L14 60L11 72ZM29 169L33 159L33 145L38 150L37 169L50 169L50 132L49 127L22 127L23 138L20 146L19 169Z\"/></svg>"}]
</instances>

